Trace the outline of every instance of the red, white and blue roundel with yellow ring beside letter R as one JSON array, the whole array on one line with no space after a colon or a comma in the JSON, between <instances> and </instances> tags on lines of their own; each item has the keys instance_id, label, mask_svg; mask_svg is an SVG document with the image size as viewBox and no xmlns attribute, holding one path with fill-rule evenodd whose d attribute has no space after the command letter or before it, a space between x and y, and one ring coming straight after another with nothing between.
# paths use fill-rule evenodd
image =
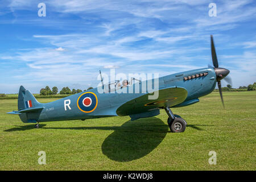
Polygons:
<instances>
[{"instance_id":1,"label":"red, white and blue roundel with yellow ring beside letter R","mask_svg":"<svg viewBox=\"0 0 256 182\"><path fill-rule=\"evenodd\" d=\"M98 105L98 98L92 92L85 92L77 100L77 107L84 113L91 113Z\"/></svg>"}]
</instances>

